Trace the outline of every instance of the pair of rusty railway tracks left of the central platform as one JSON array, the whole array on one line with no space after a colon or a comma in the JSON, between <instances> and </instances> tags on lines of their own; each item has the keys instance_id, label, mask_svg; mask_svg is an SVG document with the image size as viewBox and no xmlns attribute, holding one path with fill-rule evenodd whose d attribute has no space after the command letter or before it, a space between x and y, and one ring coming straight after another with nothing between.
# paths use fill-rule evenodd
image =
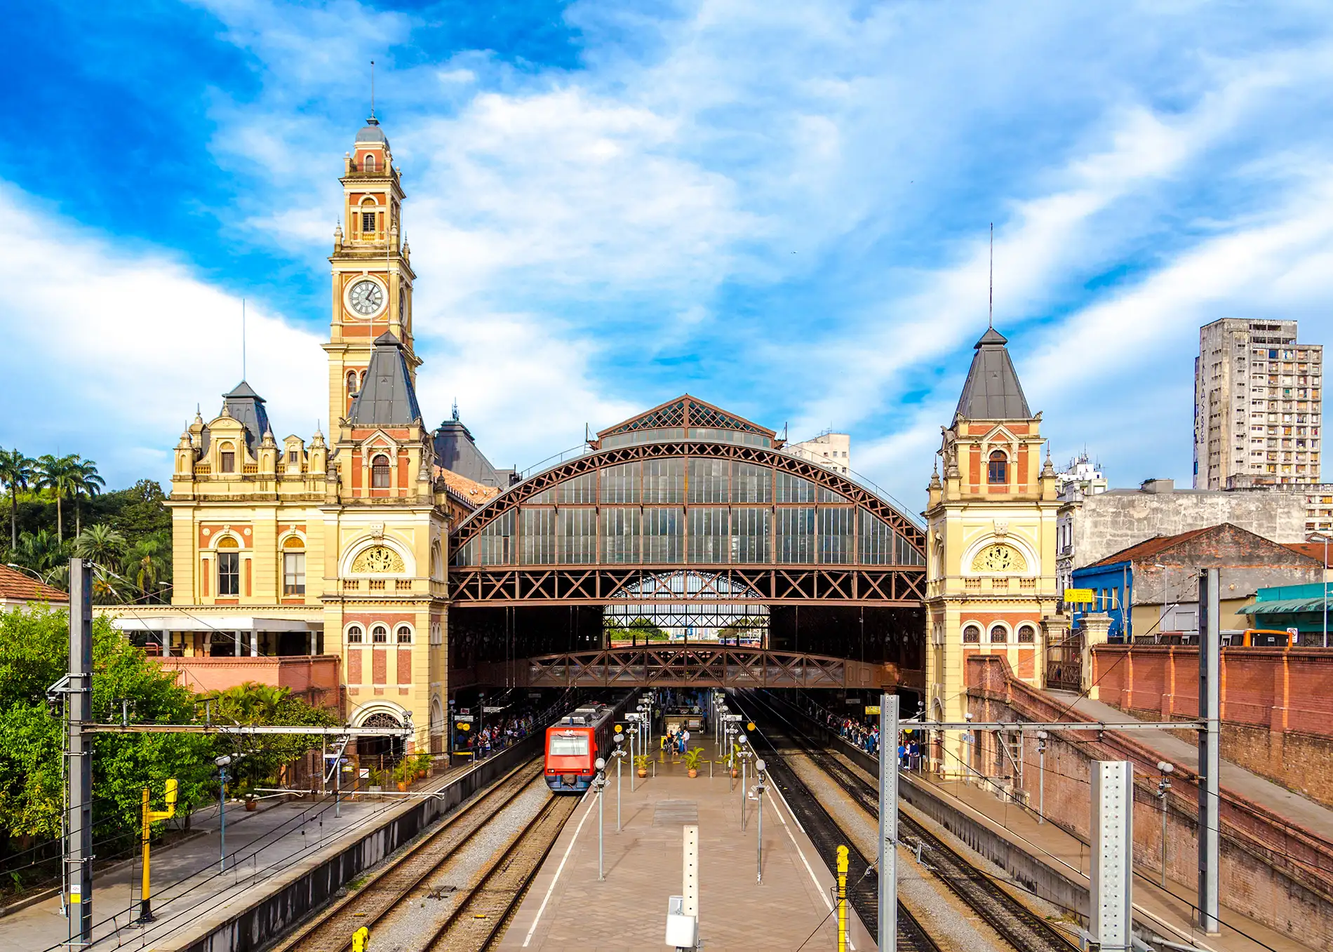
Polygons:
<instances>
[{"instance_id":1,"label":"pair of rusty railway tracks left of the central platform","mask_svg":"<svg viewBox=\"0 0 1333 952\"><path fill-rule=\"evenodd\" d=\"M512 771L496 780L479 797L465 804L461 809L455 812L453 816L444 820L439 829L428 836L424 836L417 843L413 843L400 856L375 871L359 889L336 900L295 932L284 936L281 941L272 947L271 952L289 952L296 949L300 952L347 952L352 948L352 933L363 925L371 928L373 939L376 924L384 920L384 917L393 909L408 901L413 892L423 883L425 883L436 869L439 869L452 856L459 853L459 851L465 848L468 843L487 827L487 824L504 812L505 807L517 800L533 783L544 784L541 764L543 759L539 755L537 757L515 767ZM553 797L553 800L565 799L577 800L577 797ZM544 821L547 824L552 823L553 817L561 813L561 807L548 803L539 812L537 817L528 824L528 829L535 829L539 821ZM573 804L569 804L568 809L564 811L564 819L567 819L572 811ZM559 827L564 823L564 819L560 819L556 824L555 836L560 833ZM457 917L457 912L465 904L477 897L481 887L500 875L499 869L501 867L515 869L520 865L515 863L515 860L520 859L516 853L523 853L525 856L531 851L516 851L516 844L521 843L528 829L524 829L517 840L504 851L500 860L483 873L477 885L467 896L459 897L453 907L455 913L451 915L451 921ZM543 827L544 833L548 831L548 827ZM551 843L555 843L555 836L551 837ZM549 848L551 847L548 844L547 849L549 851ZM543 857L544 856L545 851L543 851ZM536 867L540 864L541 860L539 859L536 865L533 865L533 868L528 872L529 879L536 872ZM503 881L512 884L513 880L504 879ZM527 880L524 881L524 885L527 885ZM505 916L495 924L495 931L487 941L491 941L495 933L499 932L500 925L512 911L513 904L517 903L517 896L521 896L521 888L515 892L512 904L505 909ZM448 923L436 932L427 948L455 948L449 944L439 944L448 941L447 933ZM485 945L477 944L469 948L481 949L485 948Z\"/></svg>"}]
</instances>

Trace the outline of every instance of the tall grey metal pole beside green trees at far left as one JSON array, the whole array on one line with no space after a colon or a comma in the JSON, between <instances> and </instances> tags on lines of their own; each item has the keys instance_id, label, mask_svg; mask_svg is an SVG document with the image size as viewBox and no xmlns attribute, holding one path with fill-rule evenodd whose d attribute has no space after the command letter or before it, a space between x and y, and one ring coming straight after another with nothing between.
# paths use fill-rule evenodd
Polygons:
<instances>
[{"instance_id":1,"label":"tall grey metal pole beside green trees at far left","mask_svg":"<svg viewBox=\"0 0 1333 952\"><path fill-rule=\"evenodd\" d=\"M92 944L92 563L69 560L69 944Z\"/></svg>"}]
</instances>

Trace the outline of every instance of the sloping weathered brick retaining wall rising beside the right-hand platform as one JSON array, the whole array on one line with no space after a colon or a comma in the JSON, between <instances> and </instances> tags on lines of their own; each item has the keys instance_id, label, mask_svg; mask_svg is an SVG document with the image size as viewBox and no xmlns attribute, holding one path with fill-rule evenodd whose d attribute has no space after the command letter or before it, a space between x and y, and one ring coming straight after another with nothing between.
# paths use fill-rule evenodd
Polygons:
<instances>
[{"instance_id":1,"label":"sloping weathered brick retaining wall rising beside the right-hand platform","mask_svg":"<svg viewBox=\"0 0 1333 952\"><path fill-rule=\"evenodd\" d=\"M969 711L978 721L1086 720L1013 677L1002 656L969 659L966 684ZM1190 711L1189 716L1197 715ZM1012 789L1014 797L1033 807L1038 800L1038 783L1042 783L1048 821L1085 841L1090 820L1090 763L1133 761L1134 868L1153 879L1160 875L1162 808L1154 795L1158 757L1153 751L1129 733L1053 732L1044 771L1038 771L1034 739L1025 740L1018 776L1012 763L998 757L993 735L978 735L973 765L994 777L996 785ZM997 763L1004 764L1000 771ZM1038 776L1044 780L1038 781ZM1193 887L1198 856L1198 776L1178 767L1172 783L1166 797L1168 876ZM1333 936L1333 831L1297 827L1226 787L1221 791L1220 815L1224 907L1244 909L1305 945L1328 948L1329 936Z\"/></svg>"}]
</instances>

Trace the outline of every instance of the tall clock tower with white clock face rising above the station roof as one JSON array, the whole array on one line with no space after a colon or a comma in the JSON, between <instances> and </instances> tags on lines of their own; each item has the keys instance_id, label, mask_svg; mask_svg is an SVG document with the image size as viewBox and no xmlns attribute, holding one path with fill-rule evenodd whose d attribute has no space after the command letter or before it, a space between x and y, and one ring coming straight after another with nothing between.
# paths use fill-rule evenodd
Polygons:
<instances>
[{"instance_id":1,"label":"tall clock tower with white clock face rising above the station roof","mask_svg":"<svg viewBox=\"0 0 1333 952\"><path fill-rule=\"evenodd\" d=\"M389 140L371 113L343 159L343 221L333 229L333 313L329 320L329 431L337 440L352 399L365 384L375 340L403 344L412 384L420 359L412 347L411 251L403 236L403 183Z\"/></svg>"}]
</instances>

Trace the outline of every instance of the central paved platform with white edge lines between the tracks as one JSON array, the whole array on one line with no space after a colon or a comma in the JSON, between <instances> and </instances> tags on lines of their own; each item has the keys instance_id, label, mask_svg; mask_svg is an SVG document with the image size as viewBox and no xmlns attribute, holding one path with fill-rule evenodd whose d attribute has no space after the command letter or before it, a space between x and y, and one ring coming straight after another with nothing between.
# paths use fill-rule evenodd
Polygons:
<instances>
[{"instance_id":1,"label":"central paved platform with white edge lines between the tracks","mask_svg":"<svg viewBox=\"0 0 1333 952\"><path fill-rule=\"evenodd\" d=\"M710 749L708 743L705 749ZM781 795L764 796L764 881L756 881L757 804L746 803L741 831L740 781L714 765L690 780L681 764L657 763L657 775L621 777L621 832L616 832L616 773L604 809L605 880L597 880L597 800L585 796L547 856L515 913L501 949L608 952L669 948L666 901L681 893L682 836L700 837L698 935L708 952L837 945L830 888L834 877ZM770 787L772 789L772 787ZM874 939L848 905L852 947ZM812 937L813 933L813 937Z\"/></svg>"}]
</instances>

